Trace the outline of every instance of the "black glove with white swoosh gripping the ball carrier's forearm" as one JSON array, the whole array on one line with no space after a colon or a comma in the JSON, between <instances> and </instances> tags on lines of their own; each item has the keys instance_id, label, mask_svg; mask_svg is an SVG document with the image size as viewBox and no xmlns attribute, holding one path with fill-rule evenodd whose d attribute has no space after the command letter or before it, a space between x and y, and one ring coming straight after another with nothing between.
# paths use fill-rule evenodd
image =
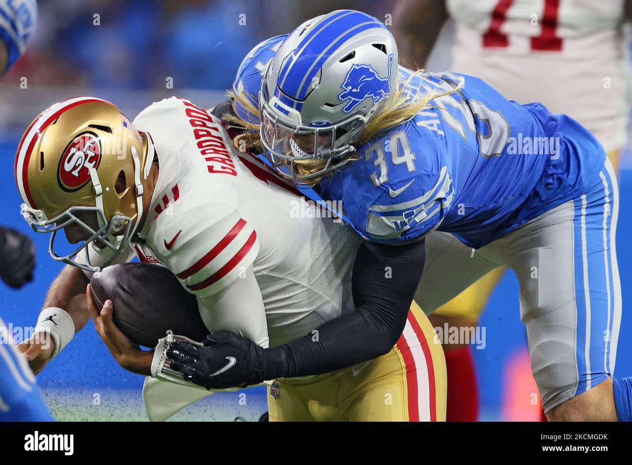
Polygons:
<instances>
[{"instance_id":1,"label":"black glove with white swoosh gripping the ball carrier's forearm","mask_svg":"<svg viewBox=\"0 0 632 465\"><path fill-rule=\"evenodd\" d=\"M246 387L264 381L264 349L228 331L210 333L204 347L184 341L167 350L171 368L207 389Z\"/></svg>"}]
</instances>

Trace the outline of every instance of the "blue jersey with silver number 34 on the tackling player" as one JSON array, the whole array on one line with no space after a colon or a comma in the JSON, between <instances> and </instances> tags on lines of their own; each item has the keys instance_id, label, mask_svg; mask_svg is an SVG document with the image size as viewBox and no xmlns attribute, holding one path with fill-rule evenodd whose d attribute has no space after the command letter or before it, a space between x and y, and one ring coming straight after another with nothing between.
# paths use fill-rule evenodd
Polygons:
<instances>
[{"instance_id":1,"label":"blue jersey with silver number 34 on the tackling player","mask_svg":"<svg viewBox=\"0 0 632 465\"><path fill-rule=\"evenodd\" d=\"M399 244L436 229L479 248L599 182L605 152L572 118L508 101L467 75L411 78L400 67L399 82L411 95L454 92L356 147L356 161L305 191L342 204L366 239Z\"/></svg>"}]
</instances>

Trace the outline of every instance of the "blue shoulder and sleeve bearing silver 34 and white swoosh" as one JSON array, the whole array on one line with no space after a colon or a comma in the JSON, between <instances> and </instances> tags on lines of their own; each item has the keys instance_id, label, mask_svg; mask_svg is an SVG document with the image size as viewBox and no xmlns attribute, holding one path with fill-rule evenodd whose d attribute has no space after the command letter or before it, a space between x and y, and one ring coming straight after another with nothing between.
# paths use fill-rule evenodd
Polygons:
<instances>
[{"instance_id":1,"label":"blue shoulder and sleeve bearing silver 34 and white swoosh","mask_svg":"<svg viewBox=\"0 0 632 465\"><path fill-rule=\"evenodd\" d=\"M444 144L409 121L359 147L360 159L332 182L351 225L369 240L393 244L436 228L454 197Z\"/></svg>"}]
</instances>

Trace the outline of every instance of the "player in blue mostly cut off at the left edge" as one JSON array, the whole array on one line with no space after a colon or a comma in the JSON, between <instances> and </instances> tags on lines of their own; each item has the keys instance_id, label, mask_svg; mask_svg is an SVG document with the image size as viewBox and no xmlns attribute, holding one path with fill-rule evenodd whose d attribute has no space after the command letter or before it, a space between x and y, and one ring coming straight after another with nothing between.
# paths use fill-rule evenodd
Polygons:
<instances>
[{"instance_id":1,"label":"player in blue mostly cut off at the left edge","mask_svg":"<svg viewBox=\"0 0 632 465\"><path fill-rule=\"evenodd\" d=\"M35 0L0 0L0 76L20 58L37 18ZM32 242L21 233L0 228L0 277L13 288L32 278ZM0 421L52 421L27 359L0 319Z\"/></svg>"}]
</instances>

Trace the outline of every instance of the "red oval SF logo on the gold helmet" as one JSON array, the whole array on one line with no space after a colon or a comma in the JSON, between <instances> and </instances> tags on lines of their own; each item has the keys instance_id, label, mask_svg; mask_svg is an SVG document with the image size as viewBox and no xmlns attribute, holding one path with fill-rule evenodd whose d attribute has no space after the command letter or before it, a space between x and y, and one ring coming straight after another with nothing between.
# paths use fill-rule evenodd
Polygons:
<instances>
[{"instance_id":1,"label":"red oval SF logo on the gold helmet","mask_svg":"<svg viewBox=\"0 0 632 465\"><path fill-rule=\"evenodd\" d=\"M57 171L61 189L75 192L90 180L90 168L99 168L101 146L99 137L92 132L83 132L73 139L64 150Z\"/></svg>"}]
</instances>

